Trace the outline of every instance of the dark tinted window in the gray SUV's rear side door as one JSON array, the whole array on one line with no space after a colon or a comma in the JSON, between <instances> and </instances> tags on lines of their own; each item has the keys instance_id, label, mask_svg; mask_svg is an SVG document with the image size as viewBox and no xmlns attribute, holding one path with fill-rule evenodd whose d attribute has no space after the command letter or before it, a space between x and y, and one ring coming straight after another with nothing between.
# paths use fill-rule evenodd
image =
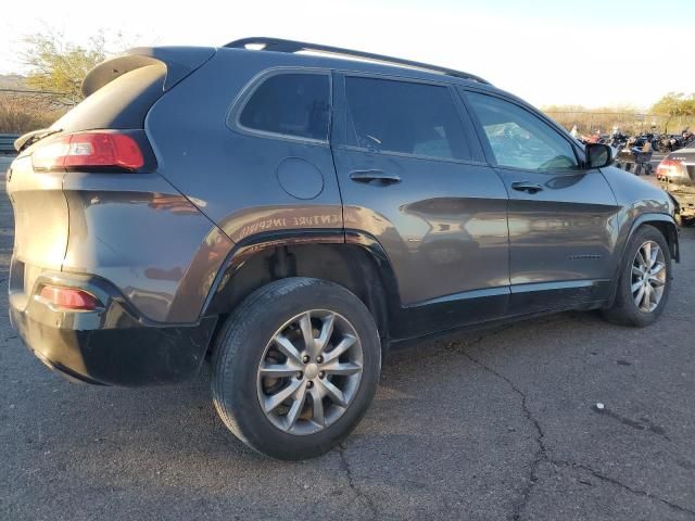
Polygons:
<instances>
[{"instance_id":1,"label":"dark tinted window in the gray SUV's rear side door","mask_svg":"<svg viewBox=\"0 0 695 521\"><path fill-rule=\"evenodd\" d=\"M349 145L465 160L464 128L446 87L345 78Z\"/></svg>"}]
</instances>

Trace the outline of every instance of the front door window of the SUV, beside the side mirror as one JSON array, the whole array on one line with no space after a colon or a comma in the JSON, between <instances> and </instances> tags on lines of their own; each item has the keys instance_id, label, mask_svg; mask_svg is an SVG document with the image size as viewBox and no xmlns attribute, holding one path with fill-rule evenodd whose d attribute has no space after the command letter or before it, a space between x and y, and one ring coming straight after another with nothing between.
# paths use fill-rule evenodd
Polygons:
<instances>
[{"instance_id":1,"label":"front door window of the SUV, beside the side mirror","mask_svg":"<svg viewBox=\"0 0 695 521\"><path fill-rule=\"evenodd\" d=\"M553 127L520 106L469 92L497 165L531 170L577 168L574 150Z\"/></svg>"}]
</instances>

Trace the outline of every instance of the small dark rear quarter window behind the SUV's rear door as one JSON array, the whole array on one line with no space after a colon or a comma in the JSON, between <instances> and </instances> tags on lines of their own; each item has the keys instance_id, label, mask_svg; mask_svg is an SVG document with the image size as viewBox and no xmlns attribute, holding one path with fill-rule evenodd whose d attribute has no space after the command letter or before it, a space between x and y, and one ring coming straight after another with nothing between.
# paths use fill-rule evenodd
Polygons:
<instances>
[{"instance_id":1,"label":"small dark rear quarter window behind the SUV's rear door","mask_svg":"<svg viewBox=\"0 0 695 521\"><path fill-rule=\"evenodd\" d=\"M270 76L253 92L239 123L264 132L326 141L329 92L325 74Z\"/></svg>"}]
</instances>

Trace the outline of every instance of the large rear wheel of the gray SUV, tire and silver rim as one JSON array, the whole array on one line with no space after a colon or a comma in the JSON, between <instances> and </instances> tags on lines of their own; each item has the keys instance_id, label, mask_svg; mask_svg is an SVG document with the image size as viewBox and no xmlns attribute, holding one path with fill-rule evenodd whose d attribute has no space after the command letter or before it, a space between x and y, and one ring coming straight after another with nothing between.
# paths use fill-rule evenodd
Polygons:
<instances>
[{"instance_id":1,"label":"large rear wheel of the gray SUV, tire and silver rim","mask_svg":"<svg viewBox=\"0 0 695 521\"><path fill-rule=\"evenodd\" d=\"M248 296L213 355L213 402L254 450L282 460L325 454L374 398L381 345L374 318L346 289L288 278Z\"/></svg>"}]
</instances>

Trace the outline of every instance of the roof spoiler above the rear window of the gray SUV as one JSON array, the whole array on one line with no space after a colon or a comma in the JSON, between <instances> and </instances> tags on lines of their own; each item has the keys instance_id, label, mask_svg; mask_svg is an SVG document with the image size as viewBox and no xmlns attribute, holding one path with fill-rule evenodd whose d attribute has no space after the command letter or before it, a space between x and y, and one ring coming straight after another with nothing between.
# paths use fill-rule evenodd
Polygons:
<instances>
[{"instance_id":1,"label":"roof spoiler above the rear window of the gray SUV","mask_svg":"<svg viewBox=\"0 0 695 521\"><path fill-rule=\"evenodd\" d=\"M83 80L83 94L87 97L130 71L156 64L166 66L164 91L167 91L213 58L215 52L212 47L136 47L89 71Z\"/></svg>"}]
</instances>

